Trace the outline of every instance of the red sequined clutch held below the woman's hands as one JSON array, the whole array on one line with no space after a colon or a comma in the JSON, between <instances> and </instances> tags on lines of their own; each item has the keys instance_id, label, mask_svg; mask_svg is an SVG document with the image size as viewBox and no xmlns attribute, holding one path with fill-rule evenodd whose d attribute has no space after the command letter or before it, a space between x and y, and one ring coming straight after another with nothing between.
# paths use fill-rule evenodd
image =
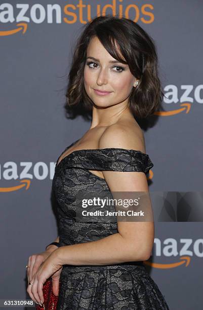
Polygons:
<instances>
[{"instance_id":1,"label":"red sequined clutch held below the woman's hands","mask_svg":"<svg viewBox=\"0 0 203 310\"><path fill-rule=\"evenodd\" d=\"M36 310L56 310L58 296L52 291L52 278L47 279L43 286L44 303L42 306L36 305Z\"/></svg>"}]
</instances>

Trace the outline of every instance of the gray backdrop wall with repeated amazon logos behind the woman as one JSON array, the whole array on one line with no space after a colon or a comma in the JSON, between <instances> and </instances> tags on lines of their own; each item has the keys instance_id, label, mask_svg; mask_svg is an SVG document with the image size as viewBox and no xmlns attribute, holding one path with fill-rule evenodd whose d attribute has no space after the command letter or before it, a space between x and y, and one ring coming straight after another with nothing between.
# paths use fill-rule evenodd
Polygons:
<instances>
[{"instance_id":1,"label":"gray backdrop wall with repeated amazon logos behind the woman","mask_svg":"<svg viewBox=\"0 0 203 310\"><path fill-rule=\"evenodd\" d=\"M90 127L81 116L71 120L65 114L71 49L99 5L113 4L116 14L122 9L156 42L168 100L163 103L166 114L142 124L154 164L150 191L202 190L202 1L83 0L82 9L78 4L0 2L0 299L29 299L28 256L58 236L51 192L54 165L64 148ZM110 7L106 14L112 14ZM149 262L157 265L148 268L172 310L202 309L202 242L202 222L155 223ZM189 264L174 267L183 256L190 258Z\"/></svg>"}]
</instances>

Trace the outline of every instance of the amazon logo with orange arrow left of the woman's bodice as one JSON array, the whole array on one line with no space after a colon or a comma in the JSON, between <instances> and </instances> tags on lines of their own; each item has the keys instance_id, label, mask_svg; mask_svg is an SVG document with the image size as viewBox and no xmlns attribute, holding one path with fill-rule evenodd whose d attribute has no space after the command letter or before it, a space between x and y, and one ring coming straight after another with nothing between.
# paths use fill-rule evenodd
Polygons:
<instances>
[{"instance_id":1,"label":"amazon logo with orange arrow left of the woman's bodice","mask_svg":"<svg viewBox=\"0 0 203 310\"><path fill-rule=\"evenodd\" d=\"M15 186L0 187L0 192L10 192L16 190L27 190L30 187L31 180L53 180L56 163L50 162L47 165L44 162L21 162L19 165L15 162L7 162L0 165L0 180L17 180Z\"/></svg>"}]
</instances>

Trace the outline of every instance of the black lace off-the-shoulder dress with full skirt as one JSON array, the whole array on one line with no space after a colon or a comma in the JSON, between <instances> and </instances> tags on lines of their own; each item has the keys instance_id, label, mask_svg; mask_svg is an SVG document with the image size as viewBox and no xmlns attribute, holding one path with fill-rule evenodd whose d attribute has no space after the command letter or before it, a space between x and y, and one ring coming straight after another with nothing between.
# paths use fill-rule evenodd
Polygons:
<instances>
[{"instance_id":1,"label":"black lace off-the-shoulder dress with full skirt","mask_svg":"<svg viewBox=\"0 0 203 310\"><path fill-rule=\"evenodd\" d=\"M118 232L116 220L106 223L76 220L79 191L94 189L98 196L102 191L110 192L105 179L89 170L142 171L148 176L152 167L147 154L122 148L75 150L62 159L56 165L53 178L58 202L59 245L91 242ZM143 262L137 261L63 265L57 310L76 309L169 310L169 307Z\"/></svg>"}]
</instances>

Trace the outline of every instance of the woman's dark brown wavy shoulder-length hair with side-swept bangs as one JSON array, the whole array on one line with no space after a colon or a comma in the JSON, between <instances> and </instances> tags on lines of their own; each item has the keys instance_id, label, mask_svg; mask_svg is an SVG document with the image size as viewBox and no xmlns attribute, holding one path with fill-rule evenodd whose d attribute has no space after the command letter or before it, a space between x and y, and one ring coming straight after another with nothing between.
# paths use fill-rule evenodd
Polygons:
<instances>
[{"instance_id":1,"label":"woman's dark brown wavy shoulder-length hair with side-swept bangs","mask_svg":"<svg viewBox=\"0 0 203 310\"><path fill-rule=\"evenodd\" d=\"M96 17L88 22L76 41L68 74L68 106L81 105L87 112L92 110L93 102L84 87L84 68L87 48L93 36L99 38L113 58L128 64L131 73L139 80L138 86L132 88L129 96L129 107L134 117L142 119L158 111L164 93L158 78L155 43L134 21L112 15ZM114 42L118 44L124 58L120 56Z\"/></svg>"}]
</instances>

